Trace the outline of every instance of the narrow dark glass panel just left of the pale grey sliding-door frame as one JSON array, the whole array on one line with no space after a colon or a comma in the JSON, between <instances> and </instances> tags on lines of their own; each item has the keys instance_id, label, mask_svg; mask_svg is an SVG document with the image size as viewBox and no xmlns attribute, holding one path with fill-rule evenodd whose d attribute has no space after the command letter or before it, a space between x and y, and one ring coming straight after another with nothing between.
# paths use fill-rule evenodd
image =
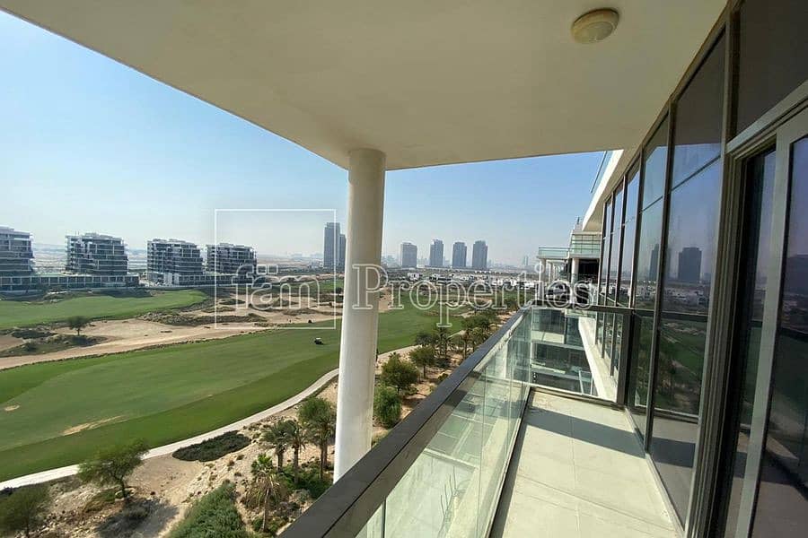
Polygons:
<instances>
[{"instance_id":1,"label":"narrow dark glass panel just left of the pale grey sliding-door frame","mask_svg":"<svg viewBox=\"0 0 808 538\"><path fill-rule=\"evenodd\" d=\"M734 430L734 456L730 494L727 500L725 536L734 536L738 523L743 479L746 472L746 454L749 446L751 413L755 399L755 381L758 374L760 330L763 321L763 301L766 296L768 253L771 230L771 202L774 188L775 152L769 151L749 162L746 181L747 200L744 215L742 273L740 286L740 312L738 315L738 355L733 359L734 390L740 397L736 406Z\"/></svg>"}]
</instances>

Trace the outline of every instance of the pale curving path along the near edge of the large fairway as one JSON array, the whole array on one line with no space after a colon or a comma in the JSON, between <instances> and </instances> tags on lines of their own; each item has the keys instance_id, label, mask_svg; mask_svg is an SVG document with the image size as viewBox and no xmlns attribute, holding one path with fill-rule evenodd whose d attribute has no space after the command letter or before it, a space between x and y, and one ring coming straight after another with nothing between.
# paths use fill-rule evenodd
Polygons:
<instances>
[{"instance_id":1,"label":"pale curving path along the near edge of the large fairway","mask_svg":"<svg viewBox=\"0 0 808 538\"><path fill-rule=\"evenodd\" d=\"M263 421L264 419L271 417L272 415L277 414L278 412L285 411L286 409L289 409L294 405L300 404L301 402L303 402L303 400L319 391L323 386L326 386L332 379L337 377L338 373L339 373L338 369L332 369L327 374L325 374L324 376L320 377L317 381L312 383L312 385L306 387L302 392L292 396L291 398L281 402L280 404L273 405L269 409L265 409L264 411L250 415L246 419L242 419L241 421L235 421L231 424L228 424L227 426L217 428L216 430L208 431L207 433L203 433L196 437L176 441L169 445L163 445L162 447L152 448L146 453L144 457L148 459L156 456L165 456L166 454L171 454L172 452L179 450L180 448L189 447L190 445L196 445L197 443L201 443L206 439L215 438L216 436L222 435L223 433L226 433L228 431L241 430L243 427L249 426L253 422ZM50 482L52 480L57 480L59 478L73 476L76 473L78 473L78 465L67 465L66 467L49 469L48 471L41 471L40 473L26 474L25 476L19 476L17 478L13 478L5 482L0 482L0 490L4 490L5 488L19 488L21 486L29 486L31 484L38 484L40 482Z\"/></svg>"}]
</instances>

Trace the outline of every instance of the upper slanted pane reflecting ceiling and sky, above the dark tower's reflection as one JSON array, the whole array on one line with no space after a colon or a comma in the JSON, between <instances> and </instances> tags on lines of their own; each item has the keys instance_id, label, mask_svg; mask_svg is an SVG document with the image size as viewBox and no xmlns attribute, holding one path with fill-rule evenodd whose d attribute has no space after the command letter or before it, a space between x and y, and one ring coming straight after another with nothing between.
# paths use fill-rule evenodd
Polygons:
<instances>
[{"instance_id":1,"label":"upper slanted pane reflecting ceiling and sky, above the dark tower's reflection","mask_svg":"<svg viewBox=\"0 0 808 538\"><path fill-rule=\"evenodd\" d=\"M718 40L676 105L672 187L720 156L723 102L724 38Z\"/></svg>"}]
</instances>

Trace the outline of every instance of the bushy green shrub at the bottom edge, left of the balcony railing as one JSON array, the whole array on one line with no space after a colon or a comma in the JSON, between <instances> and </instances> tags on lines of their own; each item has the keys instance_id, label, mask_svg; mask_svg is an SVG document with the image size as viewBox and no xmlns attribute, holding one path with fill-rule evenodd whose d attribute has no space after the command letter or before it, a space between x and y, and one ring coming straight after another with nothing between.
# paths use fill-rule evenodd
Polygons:
<instances>
[{"instance_id":1,"label":"bushy green shrub at the bottom edge, left of the balcony railing","mask_svg":"<svg viewBox=\"0 0 808 538\"><path fill-rule=\"evenodd\" d=\"M234 499L233 483L224 482L189 508L169 538L246 538L249 534Z\"/></svg>"}]
</instances>

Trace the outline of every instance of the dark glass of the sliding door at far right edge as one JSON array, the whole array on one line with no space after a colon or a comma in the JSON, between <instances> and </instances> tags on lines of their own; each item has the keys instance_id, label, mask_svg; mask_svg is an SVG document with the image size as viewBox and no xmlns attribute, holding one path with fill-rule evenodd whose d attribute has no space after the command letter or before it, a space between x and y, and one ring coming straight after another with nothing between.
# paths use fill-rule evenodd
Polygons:
<instances>
[{"instance_id":1,"label":"dark glass of the sliding door at far right edge","mask_svg":"<svg viewBox=\"0 0 808 538\"><path fill-rule=\"evenodd\" d=\"M808 138L794 144L791 166L786 266L755 538L798 536L808 528Z\"/></svg>"}]
</instances>

